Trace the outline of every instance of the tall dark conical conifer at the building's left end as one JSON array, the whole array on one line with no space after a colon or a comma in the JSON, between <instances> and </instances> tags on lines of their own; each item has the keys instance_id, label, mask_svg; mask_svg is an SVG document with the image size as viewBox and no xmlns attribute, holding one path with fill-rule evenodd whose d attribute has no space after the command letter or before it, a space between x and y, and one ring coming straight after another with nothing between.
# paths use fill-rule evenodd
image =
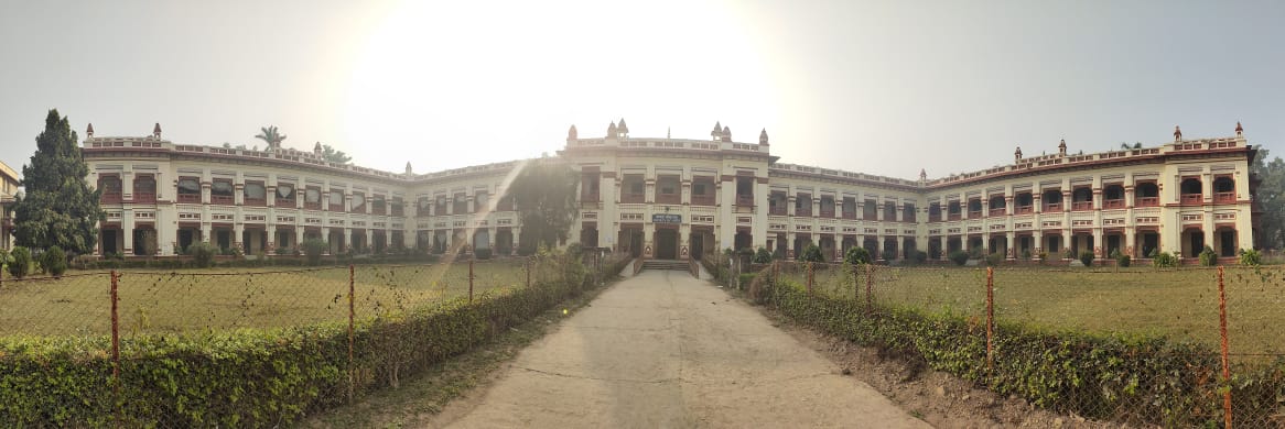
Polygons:
<instances>
[{"instance_id":1,"label":"tall dark conical conifer at the building's left end","mask_svg":"<svg viewBox=\"0 0 1285 429\"><path fill-rule=\"evenodd\" d=\"M76 132L58 109L45 117L45 131L36 136L36 154L22 166L26 195L14 203L14 243L48 249L59 247L72 254L94 252L98 222L107 213L98 207L100 190L90 189L89 164L77 146Z\"/></svg>"}]
</instances>

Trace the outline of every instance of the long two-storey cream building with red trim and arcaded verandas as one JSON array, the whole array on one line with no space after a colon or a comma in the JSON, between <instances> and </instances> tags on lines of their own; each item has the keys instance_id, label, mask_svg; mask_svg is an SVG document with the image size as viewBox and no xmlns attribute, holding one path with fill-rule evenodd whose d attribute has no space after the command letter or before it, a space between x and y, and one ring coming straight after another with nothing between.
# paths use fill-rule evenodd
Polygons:
<instances>
[{"instance_id":1,"label":"long two-storey cream building with red trim and arcaded verandas","mask_svg":"<svg viewBox=\"0 0 1285 429\"><path fill-rule=\"evenodd\" d=\"M828 259L851 247L880 258L980 249L1007 258L1064 252L1153 250L1231 257L1253 243L1249 163L1235 135L1158 146L1023 157L983 171L917 180L779 162L766 130L738 143L631 137L625 119L601 137L571 127L556 158L416 175L330 163L314 152L175 144L145 137L84 141L87 180L108 213L99 253L173 254L198 240L247 254L320 238L332 252L491 248L515 253L520 221L499 198L524 163L567 163L580 175L571 240L649 258L723 248L793 257L817 244Z\"/></svg>"}]
</instances>

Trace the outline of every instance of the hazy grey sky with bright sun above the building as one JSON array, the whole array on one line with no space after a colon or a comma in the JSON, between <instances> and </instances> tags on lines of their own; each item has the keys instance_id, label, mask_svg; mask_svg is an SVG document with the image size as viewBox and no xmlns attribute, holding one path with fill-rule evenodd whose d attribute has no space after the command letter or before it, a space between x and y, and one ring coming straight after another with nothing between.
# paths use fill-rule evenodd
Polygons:
<instances>
[{"instance_id":1,"label":"hazy grey sky with bright sun above the building","mask_svg":"<svg viewBox=\"0 0 1285 429\"><path fill-rule=\"evenodd\" d=\"M84 139L329 144L415 172L554 154L567 128L736 141L916 179L1234 135L1285 155L1279 1L0 0L0 161ZM1280 150L1277 150L1280 148Z\"/></svg>"}]
</instances>

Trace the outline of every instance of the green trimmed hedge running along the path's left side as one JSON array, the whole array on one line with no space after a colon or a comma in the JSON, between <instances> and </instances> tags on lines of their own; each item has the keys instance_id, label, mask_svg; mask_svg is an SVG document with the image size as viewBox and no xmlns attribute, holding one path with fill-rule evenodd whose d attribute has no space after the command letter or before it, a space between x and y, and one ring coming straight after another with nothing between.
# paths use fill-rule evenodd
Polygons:
<instances>
[{"instance_id":1,"label":"green trimmed hedge running along the path's left side","mask_svg":"<svg viewBox=\"0 0 1285 429\"><path fill-rule=\"evenodd\" d=\"M578 261L553 258L558 281L359 321L352 366L346 322L131 337L121 343L118 384L108 338L0 338L0 421L283 426L346 403L348 392L397 385L598 284Z\"/></svg>"}]
</instances>

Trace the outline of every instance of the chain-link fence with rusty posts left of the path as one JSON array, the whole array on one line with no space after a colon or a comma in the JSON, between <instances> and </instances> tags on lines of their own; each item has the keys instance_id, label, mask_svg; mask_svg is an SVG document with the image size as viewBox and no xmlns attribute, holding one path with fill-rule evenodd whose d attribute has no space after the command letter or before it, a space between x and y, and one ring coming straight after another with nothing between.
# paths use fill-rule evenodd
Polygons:
<instances>
[{"instance_id":1,"label":"chain-link fence with rusty posts left of the path","mask_svg":"<svg viewBox=\"0 0 1285 429\"><path fill-rule=\"evenodd\" d=\"M301 405L333 406L355 390L396 385L398 371L468 349L601 284L626 261L586 252L4 279L0 421L162 428L253 426L274 415L289 421L307 411ZM148 399L130 397L158 390Z\"/></svg>"}]
</instances>

